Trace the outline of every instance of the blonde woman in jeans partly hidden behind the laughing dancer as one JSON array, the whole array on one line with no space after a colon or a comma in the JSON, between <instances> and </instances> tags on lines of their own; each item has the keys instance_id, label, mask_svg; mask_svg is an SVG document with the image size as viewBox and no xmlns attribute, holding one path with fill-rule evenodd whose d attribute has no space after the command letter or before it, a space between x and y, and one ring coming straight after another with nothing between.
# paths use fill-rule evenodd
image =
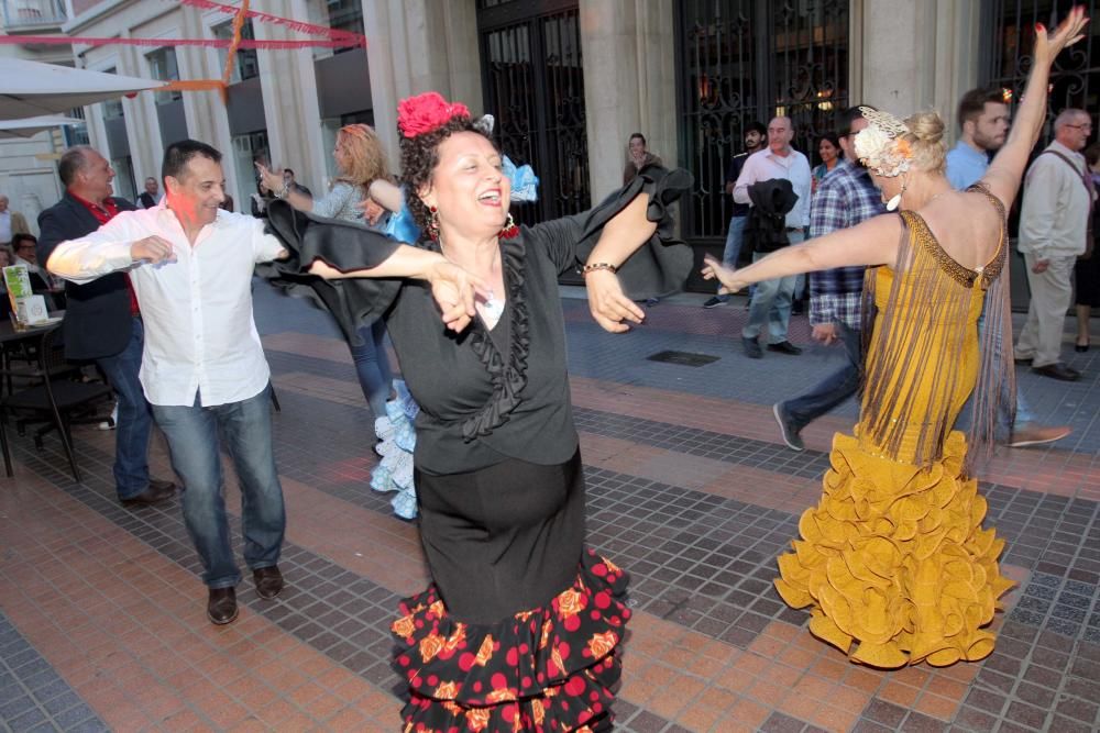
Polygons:
<instances>
[{"instance_id":1,"label":"blonde woman in jeans partly hidden behind the laughing dancer","mask_svg":"<svg viewBox=\"0 0 1100 733\"><path fill-rule=\"evenodd\" d=\"M337 177L328 195L314 199L288 186L282 170L268 170L262 163L256 163L262 184L277 199L286 200L298 211L308 211L316 216L338 219L369 225L364 221L363 209L359 206L367 198L371 184L376 180L391 180L389 165L386 154L378 143L374 130L365 124L349 124L337 133L332 157L337 164ZM411 424L397 402L388 410L386 401L392 396L393 373L389 369L389 358L386 355L386 326L381 319L370 325L359 327L354 333L345 334L355 362L355 371L360 387L366 398L371 412L374 413L374 430L380 440L385 441L396 431L404 431L411 436ZM408 445L406 449L411 449ZM408 454L405 454L408 456ZM410 463L410 460L409 460ZM411 480L411 465L403 474ZM397 490L388 480L383 481L378 490Z\"/></svg>"}]
</instances>

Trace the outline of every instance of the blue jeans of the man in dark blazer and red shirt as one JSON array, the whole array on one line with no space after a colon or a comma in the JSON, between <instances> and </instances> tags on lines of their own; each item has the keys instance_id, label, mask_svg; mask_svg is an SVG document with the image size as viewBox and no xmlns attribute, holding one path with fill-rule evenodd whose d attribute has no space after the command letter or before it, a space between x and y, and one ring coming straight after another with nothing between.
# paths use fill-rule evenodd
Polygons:
<instances>
[{"instance_id":1,"label":"blue jeans of the man in dark blazer and red shirt","mask_svg":"<svg viewBox=\"0 0 1100 733\"><path fill-rule=\"evenodd\" d=\"M119 400L114 425L114 488L123 500L148 488L148 436L153 430L153 414L138 380L145 327L140 318L132 322L127 347L114 356L96 359Z\"/></svg>"}]
</instances>

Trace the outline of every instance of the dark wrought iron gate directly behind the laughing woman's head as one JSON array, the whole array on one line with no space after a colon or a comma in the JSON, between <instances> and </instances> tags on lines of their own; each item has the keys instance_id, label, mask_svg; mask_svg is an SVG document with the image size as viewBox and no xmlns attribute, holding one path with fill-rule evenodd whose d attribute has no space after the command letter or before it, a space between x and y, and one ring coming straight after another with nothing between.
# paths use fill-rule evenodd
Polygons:
<instances>
[{"instance_id":1,"label":"dark wrought iron gate directly behind the laughing woman's head","mask_svg":"<svg viewBox=\"0 0 1100 733\"><path fill-rule=\"evenodd\" d=\"M477 30L494 134L540 179L538 203L514 209L517 219L584 211L591 199L576 0L479 0Z\"/></svg>"}]
</instances>

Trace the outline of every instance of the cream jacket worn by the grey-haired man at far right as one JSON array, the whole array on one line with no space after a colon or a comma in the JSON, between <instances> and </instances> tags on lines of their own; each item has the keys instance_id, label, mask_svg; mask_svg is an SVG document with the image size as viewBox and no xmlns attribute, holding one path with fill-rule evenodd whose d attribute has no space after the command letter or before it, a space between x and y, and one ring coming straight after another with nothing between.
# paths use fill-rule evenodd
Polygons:
<instances>
[{"instance_id":1,"label":"cream jacket worn by the grey-haired man at far right","mask_svg":"<svg viewBox=\"0 0 1100 733\"><path fill-rule=\"evenodd\" d=\"M1085 254L1090 201L1081 178L1085 156L1058 141L1046 149L1074 162L1070 169L1057 155L1040 155L1024 178L1024 202L1020 208L1020 252L1035 259L1076 257Z\"/></svg>"}]
</instances>

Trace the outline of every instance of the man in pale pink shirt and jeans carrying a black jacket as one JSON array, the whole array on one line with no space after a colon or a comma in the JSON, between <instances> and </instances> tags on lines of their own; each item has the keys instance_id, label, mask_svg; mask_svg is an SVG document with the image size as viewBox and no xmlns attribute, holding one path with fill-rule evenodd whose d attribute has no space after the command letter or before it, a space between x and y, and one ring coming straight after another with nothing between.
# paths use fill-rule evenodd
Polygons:
<instances>
[{"instance_id":1,"label":"man in pale pink shirt and jeans carrying a black jacket","mask_svg":"<svg viewBox=\"0 0 1100 733\"><path fill-rule=\"evenodd\" d=\"M810 225L810 162L806 156L791 147L794 138L794 125L790 118L776 118L768 123L768 147L749 156L741 168L741 175L734 186L734 201L751 204L749 187L761 180L785 178L791 181L799 200L787 214L787 238L791 244L799 244L805 236ZM752 262L757 262L768 253L754 252ZM741 330L741 344L749 358L758 359L763 354L760 351L759 336L765 323L768 325L768 351L781 354L798 355L802 349L787 338L788 325L791 322L791 298L799 277L792 275L776 280L758 282L752 301L749 306L749 320Z\"/></svg>"}]
</instances>

